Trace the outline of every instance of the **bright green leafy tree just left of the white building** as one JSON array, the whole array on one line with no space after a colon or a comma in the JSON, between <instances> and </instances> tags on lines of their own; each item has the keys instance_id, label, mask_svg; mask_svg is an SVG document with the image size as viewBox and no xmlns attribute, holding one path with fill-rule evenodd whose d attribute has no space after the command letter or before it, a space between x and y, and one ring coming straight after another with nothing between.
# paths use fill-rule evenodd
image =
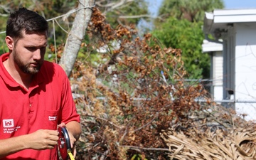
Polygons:
<instances>
[{"instance_id":1,"label":"bright green leafy tree just left of the white building","mask_svg":"<svg viewBox=\"0 0 256 160\"><path fill-rule=\"evenodd\" d=\"M201 25L202 23L191 23L170 17L152 32L167 48L181 48L184 68L190 78L209 76L210 59L201 50L203 43Z\"/></svg>"}]
</instances>

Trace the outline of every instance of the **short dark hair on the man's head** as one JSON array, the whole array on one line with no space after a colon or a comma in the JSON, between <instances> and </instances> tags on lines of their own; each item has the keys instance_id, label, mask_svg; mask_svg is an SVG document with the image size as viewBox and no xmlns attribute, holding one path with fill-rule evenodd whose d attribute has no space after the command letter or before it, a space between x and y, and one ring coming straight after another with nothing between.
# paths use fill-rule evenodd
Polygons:
<instances>
[{"instance_id":1,"label":"short dark hair on the man's head","mask_svg":"<svg viewBox=\"0 0 256 160\"><path fill-rule=\"evenodd\" d=\"M43 16L26 8L11 13L6 24L6 36L18 40L22 31L27 34L48 32L48 22Z\"/></svg>"}]
</instances>

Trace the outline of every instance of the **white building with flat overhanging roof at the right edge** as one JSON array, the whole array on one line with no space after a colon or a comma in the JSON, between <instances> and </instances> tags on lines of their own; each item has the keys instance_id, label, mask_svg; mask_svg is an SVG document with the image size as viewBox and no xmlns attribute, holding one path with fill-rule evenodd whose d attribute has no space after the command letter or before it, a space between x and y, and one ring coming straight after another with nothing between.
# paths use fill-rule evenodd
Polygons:
<instances>
[{"instance_id":1,"label":"white building with flat overhanging roof at the right edge","mask_svg":"<svg viewBox=\"0 0 256 160\"><path fill-rule=\"evenodd\" d=\"M213 83L214 99L234 102L238 114L256 120L256 9L216 9L206 13L203 32L206 37L213 35L217 42L208 40L203 44L203 51L213 54L213 82L222 79L222 83ZM218 49L210 50L210 43L222 44L222 54L216 46Z\"/></svg>"}]
</instances>

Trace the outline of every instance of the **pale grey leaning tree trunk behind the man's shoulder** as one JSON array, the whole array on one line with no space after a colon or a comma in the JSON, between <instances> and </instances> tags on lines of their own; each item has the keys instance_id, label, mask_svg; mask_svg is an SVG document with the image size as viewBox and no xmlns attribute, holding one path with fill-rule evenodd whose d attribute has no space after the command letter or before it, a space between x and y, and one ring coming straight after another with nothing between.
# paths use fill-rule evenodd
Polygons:
<instances>
[{"instance_id":1,"label":"pale grey leaning tree trunk behind the man's shoulder","mask_svg":"<svg viewBox=\"0 0 256 160\"><path fill-rule=\"evenodd\" d=\"M92 16L92 7L95 5L95 0L80 0L78 4L78 11L75 15L75 20L68 34L63 55L60 58L60 65L65 70L65 73L69 76L75 60L78 57L78 52L82 40L85 36L85 31L90 22Z\"/></svg>"}]
</instances>

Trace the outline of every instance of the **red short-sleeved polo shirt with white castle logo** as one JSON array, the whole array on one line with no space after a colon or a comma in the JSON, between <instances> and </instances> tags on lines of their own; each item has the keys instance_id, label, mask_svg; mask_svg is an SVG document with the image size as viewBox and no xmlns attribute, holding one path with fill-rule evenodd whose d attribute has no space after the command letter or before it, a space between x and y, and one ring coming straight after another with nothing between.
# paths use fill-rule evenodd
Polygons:
<instances>
[{"instance_id":1,"label":"red short-sleeved polo shirt with white castle logo","mask_svg":"<svg viewBox=\"0 0 256 160\"><path fill-rule=\"evenodd\" d=\"M0 56L0 139L57 129L61 122L80 122L70 90L70 82L60 65L44 61L26 90L9 75ZM25 149L6 159L58 159L57 148L37 151Z\"/></svg>"}]
</instances>

